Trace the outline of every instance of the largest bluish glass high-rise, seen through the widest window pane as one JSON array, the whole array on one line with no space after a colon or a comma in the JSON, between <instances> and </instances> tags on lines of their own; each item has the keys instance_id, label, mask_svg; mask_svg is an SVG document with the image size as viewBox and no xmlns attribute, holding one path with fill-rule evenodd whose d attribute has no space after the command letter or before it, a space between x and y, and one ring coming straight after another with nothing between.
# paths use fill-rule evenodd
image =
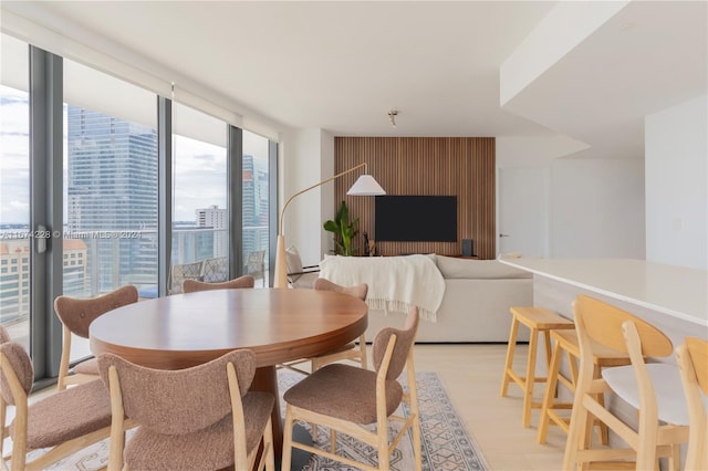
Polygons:
<instances>
[{"instance_id":1,"label":"largest bluish glass high-rise, seen through the widest window pane","mask_svg":"<svg viewBox=\"0 0 708 471\"><path fill-rule=\"evenodd\" d=\"M70 233L87 236L94 295L157 281L157 130L67 107ZM127 231L134 236L125 237Z\"/></svg>"}]
</instances>

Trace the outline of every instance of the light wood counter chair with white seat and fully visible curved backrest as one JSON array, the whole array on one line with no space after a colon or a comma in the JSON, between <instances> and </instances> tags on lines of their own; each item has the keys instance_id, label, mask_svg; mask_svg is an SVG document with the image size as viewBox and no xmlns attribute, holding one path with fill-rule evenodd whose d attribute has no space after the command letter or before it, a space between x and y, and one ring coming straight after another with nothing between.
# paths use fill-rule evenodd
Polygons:
<instances>
[{"instance_id":1,"label":"light wood counter chair with white seat and fully visible curved backrest","mask_svg":"<svg viewBox=\"0 0 708 471\"><path fill-rule=\"evenodd\" d=\"M666 457L669 469L678 470L680 443L688 441L679 371L674 365L645 363L644 358L668 357L671 341L646 321L594 297L579 295L573 310L581 360L563 469L586 469L592 463L618 468L636 460L637 470L653 470L658 469L657 458ZM597 346L626 352L632 364L604 368L602 377L595 378ZM610 393L637 410L636 426L626 423L600 399ZM593 448L594 419L625 446Z\"/></svg>"}]
</instances>

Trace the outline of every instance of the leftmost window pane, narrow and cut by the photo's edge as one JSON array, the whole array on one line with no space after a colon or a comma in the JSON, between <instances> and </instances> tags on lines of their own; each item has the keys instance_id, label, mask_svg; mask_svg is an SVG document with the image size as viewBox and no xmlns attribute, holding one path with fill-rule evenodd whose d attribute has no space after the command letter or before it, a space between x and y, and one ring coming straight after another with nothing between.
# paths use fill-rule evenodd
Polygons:
<instances>
[{"instance_id":1,"label":"leftmost window pane, narrow and cut by the photo's edge","mask_svg":"<svg viewBox=\"0 0 708 471\"><path fill-rule=\"evenodd\" d=\"M1 35L0 325L30 348L30 96L29 46Z\"/></svg>"}]
</instances>

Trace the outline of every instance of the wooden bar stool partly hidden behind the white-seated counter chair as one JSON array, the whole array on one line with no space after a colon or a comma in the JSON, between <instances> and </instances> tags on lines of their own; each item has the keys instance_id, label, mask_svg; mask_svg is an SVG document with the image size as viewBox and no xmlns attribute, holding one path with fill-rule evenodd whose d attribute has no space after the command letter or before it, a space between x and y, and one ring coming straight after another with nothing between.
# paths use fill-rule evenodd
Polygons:
<instances>
[{"instance_id":1,"label":"wooden bar stool partly hidden behind the white-seated counter chair","mask_svg":"<svg viewBox=\"0 0 708 471\"><path fill-rule=\"evenodd\" d=\"M545 393L543 395L543 404L541 406L541 416L539 419L539 432L537 440L539 443L545 443L545 437L549 426L554 423L559 426L565 433L570 428L570 417L563 417L560 410L569 410L573 408L573 402L554 402L556 396L555 387L559 383L563 384L571 393L575 393L577 384L577 362L580 359L580 343L577 341L577 332L575 331L551 331L551 339L553 341L553 355L551 355L551 365L549 366L548 381L545 383ZM561 359L565 353L568 359L570 378L561 373ZM632 364L629 355L624 352L615 350L604 345L597 345L593 348L593 378L601 377L601 368L606 366L625 366ZM602 395L598 395L602 401ZM600 440L603 444L607 444L607 426L598 422Z\"/></svg>"}]
</instances>

